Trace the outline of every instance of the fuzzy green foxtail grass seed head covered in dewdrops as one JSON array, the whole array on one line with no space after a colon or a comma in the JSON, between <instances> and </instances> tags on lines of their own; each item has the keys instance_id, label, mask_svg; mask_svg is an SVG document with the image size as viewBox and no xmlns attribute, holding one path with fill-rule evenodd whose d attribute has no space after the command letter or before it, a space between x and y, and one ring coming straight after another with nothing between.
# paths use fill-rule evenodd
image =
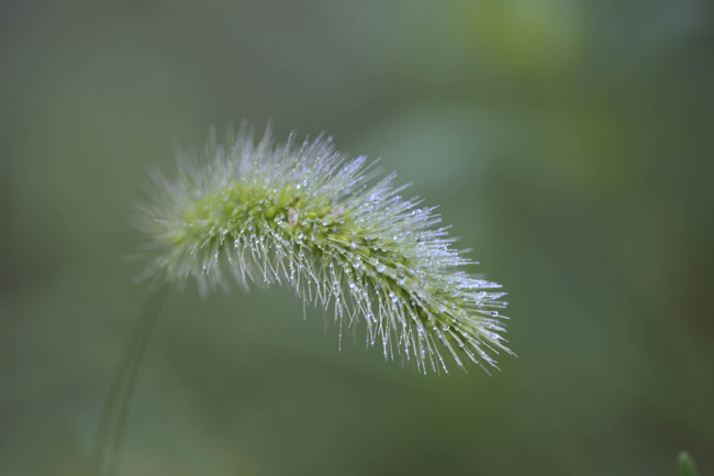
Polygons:
<instances>
[{"instance_id":1,"label":"fuzzy green foxtail grass seed head covered in dewdrops","mask_svg":"<svg viewBox=\"0 0 714 476\"><path fill-rule=\"evenodd\" d=\"M202 295L249 284L290 286L339 328L362 324L368 345L426 373L471 361L495 367L511 353L500 285L462 269L435 207L401 196L394 175L337 152L332 137L260 141L242 130L226 146L211 134L198 157L155 174L135 223L148 236L144 276Z\"/></svg>"}]
</instances>

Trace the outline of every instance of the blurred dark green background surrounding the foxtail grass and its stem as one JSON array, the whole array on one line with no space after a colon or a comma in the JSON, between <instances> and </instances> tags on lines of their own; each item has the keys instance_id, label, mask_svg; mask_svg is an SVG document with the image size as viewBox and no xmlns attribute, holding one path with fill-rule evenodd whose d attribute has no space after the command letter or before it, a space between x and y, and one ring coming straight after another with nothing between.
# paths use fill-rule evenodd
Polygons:
<instances>
[{"instance_id":1,"label":"blurred dark green background surrounding the foxtail grass and its stem","mask_svg":"<svg viewBox=\"0 0 714 476\"><path fill-rule=\"evenodd\" d=\"M132 202L244 118L440 204L518 358L424 377L289 290L190 287L122 474L714 474L713 54L699 0L3 2L0 474L86 474L145 295Z\"/></svg>"}]
</instances>

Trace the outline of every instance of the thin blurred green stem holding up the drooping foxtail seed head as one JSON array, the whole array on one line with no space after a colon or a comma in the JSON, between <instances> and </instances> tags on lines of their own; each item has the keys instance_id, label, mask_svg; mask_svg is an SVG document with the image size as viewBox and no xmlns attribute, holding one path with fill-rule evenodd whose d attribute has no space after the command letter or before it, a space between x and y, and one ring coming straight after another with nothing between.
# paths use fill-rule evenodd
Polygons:
<instances>
[{"instance_id":1,"label":"thin blurred green stem holding up the drooping foxtail seed head","mask_svg":"<svg viewBox=\"0 0 714 476\"><path fill-rule=\"evenodd\" d=\"M119 474L121 445L138 370L168 294L168 288L164 285L152 289L122 361L112 377L94 442L90 467L92 476ZM107 456L109 456L108 463Z\"/></svg>"}]
</instances>

